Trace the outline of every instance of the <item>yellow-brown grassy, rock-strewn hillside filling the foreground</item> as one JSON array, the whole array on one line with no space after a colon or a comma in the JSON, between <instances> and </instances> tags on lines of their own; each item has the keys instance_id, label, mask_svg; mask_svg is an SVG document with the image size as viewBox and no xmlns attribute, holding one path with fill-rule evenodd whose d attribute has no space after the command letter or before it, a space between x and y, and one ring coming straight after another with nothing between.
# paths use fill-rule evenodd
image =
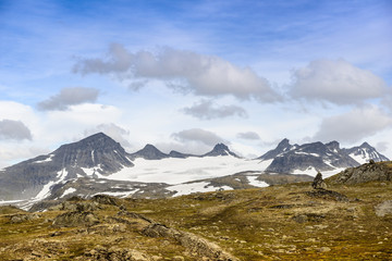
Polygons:
<instances>
[{"instance_id":1,"label":"yellow-brown grassy, rock-strewn hillside filling the foreground","mask_svg":"<svg viewBox=\"0 0 392 261\"><path fill-rule=\"evenodd\" d=\"M0 259L391 260L392 182L332 179L329 190L298 183L168 199L72 198L39 213L8 208Z\"/></svg>"}]
</instances>

